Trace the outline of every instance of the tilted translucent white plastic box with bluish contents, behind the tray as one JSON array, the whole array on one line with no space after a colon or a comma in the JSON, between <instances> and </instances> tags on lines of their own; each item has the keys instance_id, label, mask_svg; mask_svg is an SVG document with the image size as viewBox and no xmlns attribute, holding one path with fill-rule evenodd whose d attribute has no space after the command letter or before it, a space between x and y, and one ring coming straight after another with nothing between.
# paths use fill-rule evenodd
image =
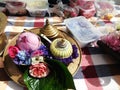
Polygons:
<instances>
[{"instance_id":1,"label":"tilted translucent white plastic box with bluish contents, behind the tray","mask_svg":"<svg viewBox=\"0 0 120 90\"><path fill-rule=\"evenodd\" d=\"M64 23L68 30L77 39L81 48L95 40L98 40L103 35L83 16L65 19Z\"/></svg>"}]
</instances>

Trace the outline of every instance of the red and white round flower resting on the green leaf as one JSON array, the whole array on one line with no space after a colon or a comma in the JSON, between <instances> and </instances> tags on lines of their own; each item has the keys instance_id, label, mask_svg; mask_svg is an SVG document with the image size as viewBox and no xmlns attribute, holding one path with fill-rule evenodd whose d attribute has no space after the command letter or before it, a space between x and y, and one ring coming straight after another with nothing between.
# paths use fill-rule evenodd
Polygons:
<instances>
[{"instance_id":1,"label":"red and white round flower resting on the green leaf","mask_svg":"<svg viewBox=\"0 0 120 90\"><path fill-rule=\"evenodd\" d=\"M47 64L44 62L32 65L29 68L30 75L36 78L46 77L49 74L49 72L50 72L49 68L47 67Z\"/></svg>"}]
</instances>

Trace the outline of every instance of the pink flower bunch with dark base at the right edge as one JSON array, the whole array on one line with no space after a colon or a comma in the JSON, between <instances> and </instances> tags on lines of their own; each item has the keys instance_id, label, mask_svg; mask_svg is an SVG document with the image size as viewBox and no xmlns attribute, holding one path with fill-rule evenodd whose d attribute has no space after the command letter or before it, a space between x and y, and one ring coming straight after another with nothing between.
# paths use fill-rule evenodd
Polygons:
<instances>
[{"instance_id":1,"label":"pink flower bunch with dark base at the right edge","mask_svg":"<svg viewBox=\"0 0 120 90\"><path fill-rule=\"evenodd\" d=\"M120 31L114 31L101 37L97 44L115 59L120 60Z\"/></svg>"}]
</instances>

